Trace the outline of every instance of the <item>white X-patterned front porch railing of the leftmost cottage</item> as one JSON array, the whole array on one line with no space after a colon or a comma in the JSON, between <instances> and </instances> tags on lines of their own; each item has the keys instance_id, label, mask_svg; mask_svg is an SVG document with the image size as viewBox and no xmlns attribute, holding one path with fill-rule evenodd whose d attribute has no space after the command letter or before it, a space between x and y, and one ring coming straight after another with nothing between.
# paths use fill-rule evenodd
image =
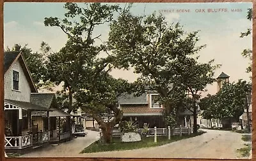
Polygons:
<instances>
[{"instance_id":1,"label":"white X-patterned front porch railing of the leftmost cottage","mask_svg":"<svg viewBox=\"0 0 256 161\"><path fill-rule=\"evenodd\" d=\"M4 148L6 149L22 149L33 145L33 139L31 135L4 137Z\"/></svg>"}]
</instances>

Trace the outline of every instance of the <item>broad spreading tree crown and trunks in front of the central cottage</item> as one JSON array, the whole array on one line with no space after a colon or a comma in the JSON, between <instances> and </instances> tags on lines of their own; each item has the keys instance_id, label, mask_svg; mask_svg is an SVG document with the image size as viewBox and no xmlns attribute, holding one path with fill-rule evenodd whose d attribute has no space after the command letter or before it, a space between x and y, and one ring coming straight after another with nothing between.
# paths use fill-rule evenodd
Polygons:
<instances>
[{"instance_id":1,"label":"broad spreading tree crown and trunks in front of the central cottage","mask_svg":"<svg viewBox=\"0 0 256 161\"><path fill-rule=\"evenodd\" d=\"M173 102L193 97L196 118L198 94L212 83L215 66L212 62L199 64L195 56L202 48L196 46L198 32L185 32L179 24L168 25L162 15L132 15L131 5L125 8L110 25L109 48L116 56L118 68L134 68L140 74L137 82L149 90L156 90L164 104L166 115L177 107ZM189 82L191 80L191 82ZM173 90L180 95L173 97ZM179 99L174 101L175 99ZM196 119L194 119L196 127ZM194 132L196 132L194 128Z\"/></svg>"}]
</instances>

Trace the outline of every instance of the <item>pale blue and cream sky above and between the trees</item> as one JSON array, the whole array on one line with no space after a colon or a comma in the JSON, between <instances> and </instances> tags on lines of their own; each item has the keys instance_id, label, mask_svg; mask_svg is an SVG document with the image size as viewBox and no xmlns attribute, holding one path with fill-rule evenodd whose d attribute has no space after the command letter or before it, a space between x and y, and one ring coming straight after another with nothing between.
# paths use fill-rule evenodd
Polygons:
<instances>
[{"instance_id":1,"label":"pale blue and cream sky above and between the trees","mask_svg":"<svg viewBox=\"0 0 256 161\"><path fill-rule=\"evenodd\" d=\"M39 51L40 43L45 41L52 51L58 52L65 45L67 35L58 27L45 27L44 18L64 18L64 4L4 3L4 48L19 43L28 44L33 51ZM79 3L79 6L84 5ZM252 8L252 3L134 3L132 13L148 15L156 11L162 13L170 24L179 22L184 31L199 31L198 45L206 45L198 53L199 61L205 63L214 59L216 64L221 64L215 77L223 71L230 76L230 81L249 81L251 74L245 71L250 60L244 58L241 52L252 48L252 35L239 38L241 32L252 28L252 22L246 19L248 8ZM101 39L106 41L108 30L108 25L101 25L93 34L101 34ZM111 74L129 81L138 77L132 70L114 70ZM215 94L216 83L208 85L207 90L207 93Z\"/></svg>"}]
</instances>

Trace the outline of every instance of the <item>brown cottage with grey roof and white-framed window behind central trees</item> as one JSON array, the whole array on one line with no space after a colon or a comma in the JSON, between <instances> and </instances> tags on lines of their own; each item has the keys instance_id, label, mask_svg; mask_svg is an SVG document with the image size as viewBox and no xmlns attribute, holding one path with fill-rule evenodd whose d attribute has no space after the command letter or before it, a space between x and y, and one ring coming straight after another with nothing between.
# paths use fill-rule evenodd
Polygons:
<instances>
[{"instance_id":1,"label":"brown cottage with grey roof and white-framed window behind central trees","mask_svg":"<svg viewBox=\"0 0 256 161\"><path fill-rule=\"evenodd\" d=\"M147 92L138 97L133 94L127 94L118 99L118 106L123 111L123 120L134 120L138 122L140 128L148 125L149 128L163 128L164 106L157 102L159 94L156 92ZM182 127L193 127L193 113L190 111L180 111L179 125Z\"/></svg>"}]
</instances>

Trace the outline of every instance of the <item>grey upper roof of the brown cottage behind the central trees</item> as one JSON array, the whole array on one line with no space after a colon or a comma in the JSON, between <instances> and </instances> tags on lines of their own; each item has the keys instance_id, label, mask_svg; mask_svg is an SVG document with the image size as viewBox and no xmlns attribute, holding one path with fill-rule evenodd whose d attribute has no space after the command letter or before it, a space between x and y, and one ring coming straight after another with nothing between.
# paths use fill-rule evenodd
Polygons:
<instances>
[{"instance_id":1,"label":"grey upper roof of the brown cottage behind the central trees","mask_svg":"<svg viewBox=\"0 0 256 161\"><path fill-rule=\"evenodd\" d=\"M134 97L134 94L123 95L118 98L119 104L148 104L147 94L144 93L138 97Z\"/></svg>"}]
</instances>

